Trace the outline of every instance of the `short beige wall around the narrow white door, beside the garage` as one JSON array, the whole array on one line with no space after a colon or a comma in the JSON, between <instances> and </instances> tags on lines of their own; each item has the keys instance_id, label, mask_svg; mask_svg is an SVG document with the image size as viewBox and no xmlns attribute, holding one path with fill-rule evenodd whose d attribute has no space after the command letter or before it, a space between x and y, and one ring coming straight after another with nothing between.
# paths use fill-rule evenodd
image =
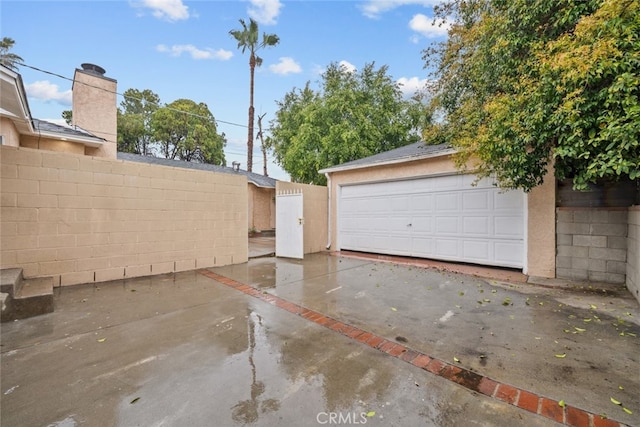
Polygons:
<instances>
[{"instance_id":1,"label":"short beige wall around the narrow white door, beside the garage","mask_svg":"<svg viewBox=\"0 0 640 427\"><path fill-rule=\"evenodd\" d=\"M302 191L304 203L304 253L324 251L327 245L327 187L284 181L276 182L276 192L297 190ZM276 233L278 233L277 229Z\"/></svg>"}]
</instances>

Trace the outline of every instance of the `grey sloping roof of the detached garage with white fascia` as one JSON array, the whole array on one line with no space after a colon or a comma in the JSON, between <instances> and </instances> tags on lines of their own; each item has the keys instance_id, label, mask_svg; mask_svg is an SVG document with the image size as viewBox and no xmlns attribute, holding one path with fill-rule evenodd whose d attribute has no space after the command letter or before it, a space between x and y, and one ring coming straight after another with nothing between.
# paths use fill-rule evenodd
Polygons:
<instances>
[{"instance_id":1,"label":"grey sloping roof of the detached garage with white fascia","mask_svg":"<svg viewBox=\"0 0 640 427\"><path fill-rule=\"evenodd\" d=\"M448 144L426 145L419 141L400 148L374 154L341 165L321 169L319 173L332 173L352 169L363 169L373 166L382 166L394 163L402 163L413 160L427 159L430 157L444 156L454 153L455 150Z\"/></svg>"}]
</instances>

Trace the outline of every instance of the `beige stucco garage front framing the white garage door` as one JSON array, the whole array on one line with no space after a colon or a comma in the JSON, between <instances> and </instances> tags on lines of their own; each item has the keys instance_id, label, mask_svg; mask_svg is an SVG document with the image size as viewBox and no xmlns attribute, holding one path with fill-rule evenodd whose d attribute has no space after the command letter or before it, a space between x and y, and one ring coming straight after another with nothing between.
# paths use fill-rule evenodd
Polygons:
<instances>
[{"instance_id":1,"label":"beige stucco garage front framing the white garage door","mask_svg":"<svg viewBox=\"0 0 640 427\"><path fill-rule=\"evenodd\" d=\"M471 163L469 167L472 167ZM334 172L330 177L331 244L336 249L337 189L341 185L457 173L451 155L378 167ZM527 262L525 273L555 277L555 184L546 180L527 196Z\"/></svg>"}]
</instances>

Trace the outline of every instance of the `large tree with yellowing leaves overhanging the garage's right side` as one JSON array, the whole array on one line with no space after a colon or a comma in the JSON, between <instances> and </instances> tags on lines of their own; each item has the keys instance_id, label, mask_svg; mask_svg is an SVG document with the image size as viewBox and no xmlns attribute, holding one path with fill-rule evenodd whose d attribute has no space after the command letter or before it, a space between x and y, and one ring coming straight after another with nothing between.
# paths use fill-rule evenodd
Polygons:
<instances>
[{"instance_id":1,"label":"large tree with yellowing leaves overhanging the garage's right side","mask_svg":"<svg viewBox=\"0 0 640 427\"><path fill-rule=\"evenodd\" d=\"M583 189L640 177L640 3L634 0L452 0L424 133L449 142L459 165L528 191L550 163Z\"/></svg>"}]
</instances>

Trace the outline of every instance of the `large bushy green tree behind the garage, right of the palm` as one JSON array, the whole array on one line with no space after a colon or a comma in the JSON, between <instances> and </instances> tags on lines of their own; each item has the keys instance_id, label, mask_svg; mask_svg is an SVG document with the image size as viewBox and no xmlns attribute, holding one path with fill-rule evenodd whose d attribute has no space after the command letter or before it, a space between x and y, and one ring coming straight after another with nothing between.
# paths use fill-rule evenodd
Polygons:
<instances>
[{"instance_id":1,"label":"large bushy green tree behind the garage, right of the palm","mask_svg":"<svg viewBox=\"0 0 640 427\"><path fill-rule=\"evenodd\" d=\"M318 170L420 139L425 123L418 98L403 99L387 67L351 72L332 63L314 91L307 82L278 102L267 144L291 179L324 184Z\"/></svg>"}]
</instances>

